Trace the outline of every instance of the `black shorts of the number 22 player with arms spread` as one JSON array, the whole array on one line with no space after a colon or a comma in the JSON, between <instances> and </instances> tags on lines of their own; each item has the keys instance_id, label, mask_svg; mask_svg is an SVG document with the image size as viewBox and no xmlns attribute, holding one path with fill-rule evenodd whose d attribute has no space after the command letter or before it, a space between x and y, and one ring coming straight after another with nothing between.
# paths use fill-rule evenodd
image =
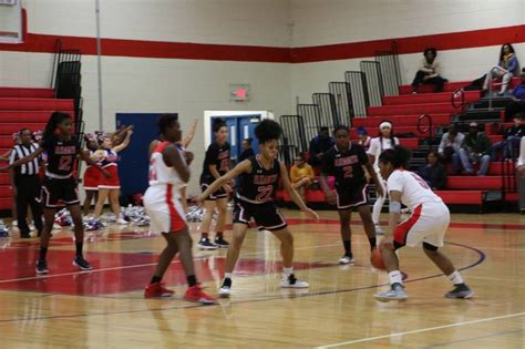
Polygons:
<instances>
[{"instance_id":1,"label":"black shorts of the number 22 player with arms spread","mask_svg":"<svg viewBox=\"0 0 525 349\"><path fill-rule=\"evenodd\" d=\"M285 217L282 217L272 202L265 204L250 204L236 197L234 206L234 224L240 223L249 225L251 218L254 218L260 230L265 229L276 232L288 226Z\"/></svg>"}]
</instances>

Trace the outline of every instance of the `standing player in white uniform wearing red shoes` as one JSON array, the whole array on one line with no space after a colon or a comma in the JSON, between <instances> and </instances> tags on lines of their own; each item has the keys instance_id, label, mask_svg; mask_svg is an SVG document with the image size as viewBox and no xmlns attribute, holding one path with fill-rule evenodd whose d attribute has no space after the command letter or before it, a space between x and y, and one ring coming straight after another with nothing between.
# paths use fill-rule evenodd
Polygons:
<instances>
[{"instance_id":1,"label":"standing player in white uniform wearing red shoes","mask_svg":"<svg viewBox=\"0 0 525 349\"><path fill-rule=\"evenodd\" d=\"M189 181L187 162L193 160L189 152L181 151L175 143L181 141L182 131L176 114L165 114L158 120L163 142L153 150L150 162L150 187L144 194L144 207L151 218L151 229L161 233L166 247L161 253L158 264L144 297L169 297L174 292L164 288L162 278L178 253L188 289L185 300L213 304L215 299L206 295L195 277L192 237L181 204L179 188Z\"/></svg>"}]
</instances>

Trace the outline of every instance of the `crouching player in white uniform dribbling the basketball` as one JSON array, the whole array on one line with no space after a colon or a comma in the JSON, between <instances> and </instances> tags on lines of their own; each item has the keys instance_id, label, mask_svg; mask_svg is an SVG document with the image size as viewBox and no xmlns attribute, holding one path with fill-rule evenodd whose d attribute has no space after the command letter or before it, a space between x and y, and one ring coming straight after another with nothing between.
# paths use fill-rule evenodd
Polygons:
<instances>
[{"instance_id":1,"label":"crouching player in white uniform dribbling the basketball","mask_svg":"<svg viewBox=\"0 0 525 349\"><path fill-rule=\"evenodd\" d=\"M454 289L446 292L446 298L471 298L473 291L466 286L452 261L439 252L450 223L450 212L443 201L435 195L415 173L405 171L410 160L410 151L395 146L379 156L379 167L383 178L388 179L390 192L389 229L380 244L381 255L389 271L390 290L375 294L382 301L408 298L399 271L398 248L405 245L414 247L423 245L423 250L445 274ZM406 205L412 215L401 224L401 204Z\"/></svg>"}]
</instances>

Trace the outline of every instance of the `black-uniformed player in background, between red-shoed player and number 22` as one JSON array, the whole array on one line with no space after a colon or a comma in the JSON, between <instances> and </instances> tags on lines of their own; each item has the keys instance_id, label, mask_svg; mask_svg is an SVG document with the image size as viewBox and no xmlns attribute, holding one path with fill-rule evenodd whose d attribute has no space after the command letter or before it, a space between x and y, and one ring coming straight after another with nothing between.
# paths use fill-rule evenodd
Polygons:
<instances>
[{"instance_id":1,"label":"black-uniformed player in background, between red-shoed player and number 22","mask_svg":"<svg viewBox=\"0 0 525 349\"><path fill-rule=\"evenodd\" d=\"M200 175L200 188L205 192L215 179L219 178L229 171L229 143L228 127L222 119L214 120L215 142L213 142L206 151L206 157L203 165L203 174ZM209 192L204 202L206 209L203 223L200 224L200 239L197 246L203 249L228 248L229 243L224 239L223 230L226 224L226 208L228 205L229 194L233 192L231 183L223 183L215 191ZM215 240L212 243L208 238L209 226L215 212L218 211L217 223L215 225Z\"/></svg>"}]
</instances>

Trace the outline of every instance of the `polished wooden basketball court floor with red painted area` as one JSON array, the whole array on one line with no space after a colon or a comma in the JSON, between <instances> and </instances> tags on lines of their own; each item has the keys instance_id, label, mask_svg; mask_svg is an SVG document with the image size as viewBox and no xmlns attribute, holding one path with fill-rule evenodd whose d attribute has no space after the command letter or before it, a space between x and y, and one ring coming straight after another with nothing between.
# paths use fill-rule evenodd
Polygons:
<instances>
[{"instance_id":1,"label":"polished wooden basketball court floor with red painted area","mask_svg":"<svg viewBox=\"0 0 525 349\"><path fill-rule=\"evenodd\" d=\"M280 256L268 233L248 234L233 296L217 306L181 299L184 274L175 261L166 283L174 299L143 298L163 239L125 227L90 234L87 259L71 266L68 230L53 238L50 275L34 277L38 240L0 239L1 348L524 348L525 216L454 215L444 250L474 289L471 300L445 299L449 280L420 248L400 252L409 299L378 302L388 284L370 267L369 247L353 220L356 265L341 256L338 220L319 223L285 211L295 235L296 274L308 290L279 288ZM383 219L387 216L382 217ZM353 217L357 219L357 215ZM198 227L192 226L195 239ZM229 236L229 233L227 234ZM198 278L216 295L226 252L195 249Z\"/></svg>"}]
</instances>

